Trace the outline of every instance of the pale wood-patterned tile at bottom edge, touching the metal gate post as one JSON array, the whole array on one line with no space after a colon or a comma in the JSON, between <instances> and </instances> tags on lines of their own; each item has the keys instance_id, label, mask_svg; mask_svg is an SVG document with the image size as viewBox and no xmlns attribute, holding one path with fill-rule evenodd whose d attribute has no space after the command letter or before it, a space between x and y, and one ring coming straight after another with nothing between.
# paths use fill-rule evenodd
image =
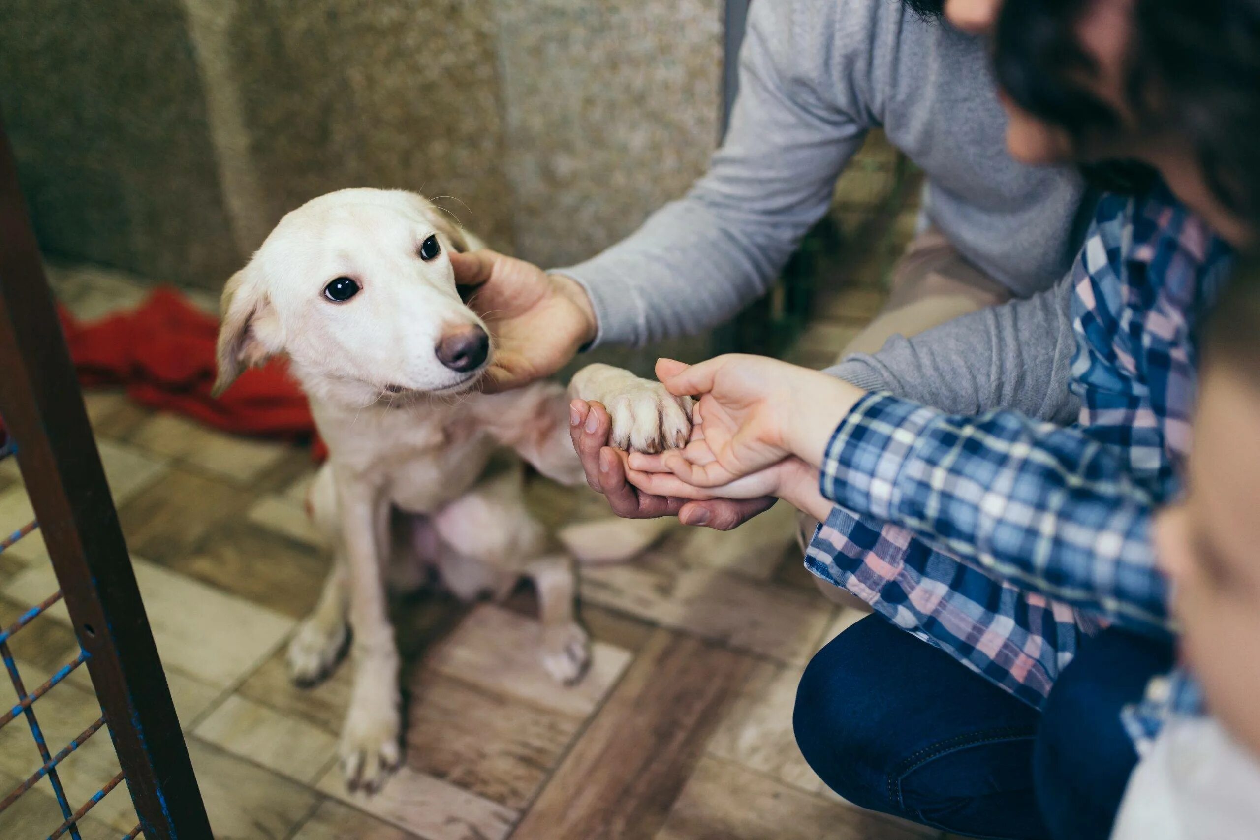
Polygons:
<instances>
[{"instance_id":1,"label":"pale wood-patterned tile at bottom edge, touching the metal gate post","mask_svg":"<svg viewBox=\"0 0 1260 840\"><path fill-rule=\"evenodd\" d=\"M309 787L195 737L188 752L215 840L289 837L320 800Z\"/></svg>"}]
</instances>

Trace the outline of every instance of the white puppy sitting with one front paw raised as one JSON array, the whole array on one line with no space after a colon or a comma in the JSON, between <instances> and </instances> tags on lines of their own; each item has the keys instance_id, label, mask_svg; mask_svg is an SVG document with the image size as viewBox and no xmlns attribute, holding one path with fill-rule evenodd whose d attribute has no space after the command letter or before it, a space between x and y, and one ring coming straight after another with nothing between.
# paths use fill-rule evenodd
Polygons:
<instances>
[{"instance_id":1,"label":"white puppy sitting with one front paw raised","mask_svg":"<svg viewBox=\"0 0 1260 840\"><path fill-rule=\"evenodd\" d=\"M418 195L341 190L286 215L223 291L217 388L247 365L287 355L329 447L309 509L334 565L289 665L300 683L323 679L353 628L340 744L352 787L375 790L399 759L387 579L422 581L436 569L456 594L474 598L505 596L528 576L547 670L570 683L587 662L571 557L525 510L519 458L490 468L491 456L509 450L551 479L580 482L568 397L553 383L476 390L494 349L455 287L447 254L466 247L467 234ZM635 448L685 441L689 403L658 383L591 365L571 392L609 406L615 438ZM609 534L624 550L611 555L633 554L655 533L622 520ZM609 559L607 545L600 549Z\"/></svg>"}]
</instances>

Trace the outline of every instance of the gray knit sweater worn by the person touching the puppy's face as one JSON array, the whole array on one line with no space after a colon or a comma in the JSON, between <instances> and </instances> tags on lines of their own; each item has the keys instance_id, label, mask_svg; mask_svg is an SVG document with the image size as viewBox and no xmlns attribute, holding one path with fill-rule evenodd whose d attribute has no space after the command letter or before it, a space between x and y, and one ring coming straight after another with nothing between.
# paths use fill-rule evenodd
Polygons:
<instances>
[{"instance_id":1,"label":"gray knit sweater worn by the person touching the puppy's face","mask_svg":"<svg viewBox=\"0 0 1260 840\"><path fill-rule=\"evenodd\" d=\"M873 126L924 169L927 218L974 264L1017 297L1063 276L1079 243L1082 184L1071 170L1007 155L982 39L921 20L898 0L759 0L731 127L708 173L625 241L558 270L591 296L596 344L698 332L765 293L827 213L840 170ZM1051 309L1019 310L1026 341L1038 334L1053 346L1052 330L1062 324ZM1004 353L1013 316L1007 307L997 312L988 316L998 319L993 351ZM1027 322L1034 319L1048 320ZM925 335L932 334L939 330ZM970 338L954 331L936 340ZM891 350L893 343L878 354L885 364L866 363L859 384L891 388L931 373L916 369L922 353ZM960 361L979 361L955 350ZM1027 361L1048 375L1046 359ZM942 364L931 366L944 372ZM975 384L988 373L973 368Z\"/></svg>"}]
</instances>

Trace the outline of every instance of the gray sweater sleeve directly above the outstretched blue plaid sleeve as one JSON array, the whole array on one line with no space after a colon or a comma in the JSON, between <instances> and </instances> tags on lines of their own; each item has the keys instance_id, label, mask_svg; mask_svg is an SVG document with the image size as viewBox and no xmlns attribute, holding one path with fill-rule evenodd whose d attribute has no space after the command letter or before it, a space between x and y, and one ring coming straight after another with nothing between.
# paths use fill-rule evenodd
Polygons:
<instances>
[{"instance_id":1,"label":"gray sweater sleeve directly above the outstretched blue plaid sleeve","mask_svg":"<svg viewBox=\"0 0 1260 840\"><path fill-rule=\"evenodd\" d=\"M1076 334L1071 275L1027 300L964 315L911 339L895 335L873 354L827 373L867 390L951 414L1013 409L1066 426L1080 399L1068 390Z\"/></svg>"}]
</instances>

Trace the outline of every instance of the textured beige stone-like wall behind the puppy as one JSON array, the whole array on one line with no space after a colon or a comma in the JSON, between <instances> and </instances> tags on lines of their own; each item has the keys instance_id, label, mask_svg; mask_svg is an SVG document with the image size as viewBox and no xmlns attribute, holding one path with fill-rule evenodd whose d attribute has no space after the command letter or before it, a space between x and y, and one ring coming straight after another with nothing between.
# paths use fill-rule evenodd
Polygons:
<instances>
[{"instance_id":1,"label":"textured beige stone-like wall behind the puppy","mask_svg":"<svg viewBox=\"0 0 1260 840\"><path fill-rule=\"evenodd\" d=\"M0 108L60 257L214 288L383 186L558 264L703 170L721 37L721 0L4 0Z\"/></svg>"}]
</instances>

